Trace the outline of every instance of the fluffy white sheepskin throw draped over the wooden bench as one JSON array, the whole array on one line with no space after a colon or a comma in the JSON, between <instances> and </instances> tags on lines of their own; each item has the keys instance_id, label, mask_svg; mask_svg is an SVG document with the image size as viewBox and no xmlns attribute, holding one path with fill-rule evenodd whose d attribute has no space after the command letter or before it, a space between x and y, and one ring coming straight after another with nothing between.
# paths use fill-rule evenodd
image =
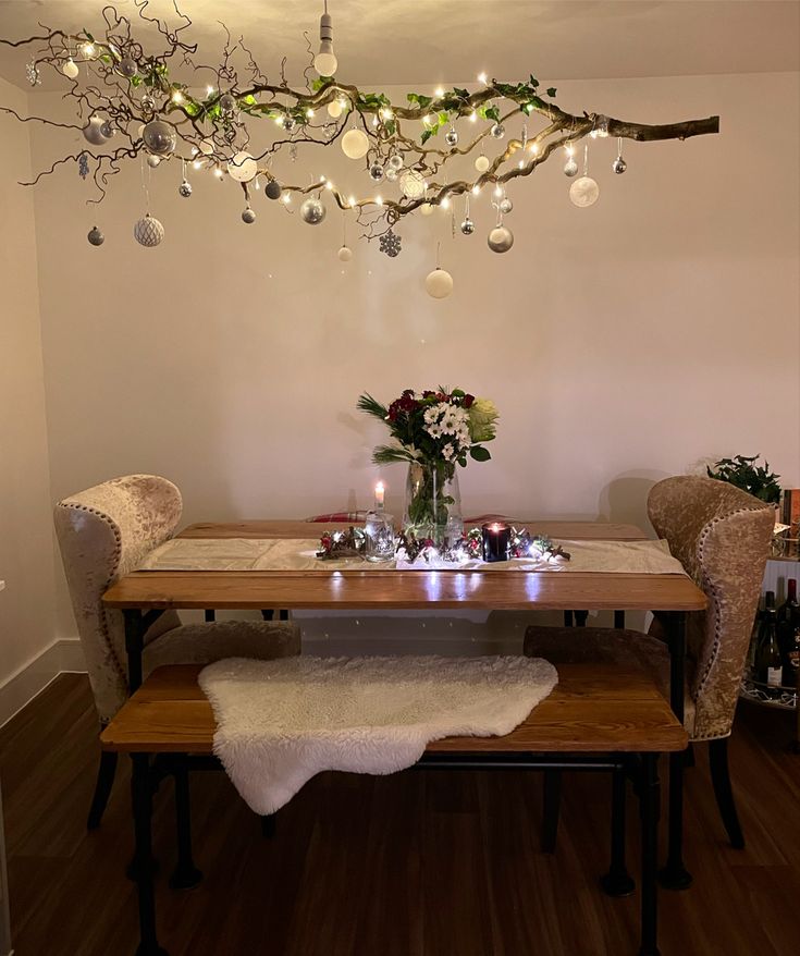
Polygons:
<instances>
[{"instance_id":1,"label":"fluffy white sheepskin throw draped over the wooden bench","mask_svg":"<svg viewBox=\"0 0 800 956\"><path fill-rule=\"evenodd\" d=\"M537 658L232 658L205 667L214 753L257 813L325 770L385 774L450 736L510 733L558 682Z\"/></svg>"}]
</instances>

